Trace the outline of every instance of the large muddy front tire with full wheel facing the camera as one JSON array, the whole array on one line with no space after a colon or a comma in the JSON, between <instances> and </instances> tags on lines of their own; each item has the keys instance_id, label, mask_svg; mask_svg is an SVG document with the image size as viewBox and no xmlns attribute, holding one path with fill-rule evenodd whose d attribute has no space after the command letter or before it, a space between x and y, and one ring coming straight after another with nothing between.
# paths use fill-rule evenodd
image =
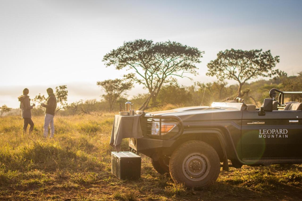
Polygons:
<instances>
[{"instance_id":1,"label":"large muddy front tire with full wheel facing the camera","mask_svg":"<svg viewBox=\"0 0 302 201\"><path fill-rule=\"evenodd\" d=\"M217 180L220 160L215 149L209 144L191 140L180 145L172 153L169 170L175 183L201 187Z\"/></svg>"}]
</instances>

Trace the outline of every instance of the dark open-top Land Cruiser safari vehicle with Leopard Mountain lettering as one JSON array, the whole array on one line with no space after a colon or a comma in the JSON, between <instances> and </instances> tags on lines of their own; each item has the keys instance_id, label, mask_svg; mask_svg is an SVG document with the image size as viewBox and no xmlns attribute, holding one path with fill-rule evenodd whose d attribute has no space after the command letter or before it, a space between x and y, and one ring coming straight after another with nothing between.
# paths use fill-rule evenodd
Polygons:
<instances>
[{"instance_id":1,"label":"dark open-top Land Cruiser safari vehicle with Leopard Mountain lettering","mask_svg":"<svg viewBox=\"0 0 302 201\"><path fill-rule=\"evenodd\" d=\"M220 167L301 164L302 103L284 103L288 94L302 91L271 89L261 108L237 98L141 114L143 138L130 138L130 149L150 157L175 183L194 187L215 181Z\"/></svg>"}]
</instances>

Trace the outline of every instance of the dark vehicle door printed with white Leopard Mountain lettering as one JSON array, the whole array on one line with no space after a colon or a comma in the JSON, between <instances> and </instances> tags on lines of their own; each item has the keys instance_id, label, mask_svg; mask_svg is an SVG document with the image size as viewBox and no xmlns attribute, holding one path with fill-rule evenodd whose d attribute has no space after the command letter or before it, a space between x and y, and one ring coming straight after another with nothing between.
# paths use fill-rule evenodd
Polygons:
<instances>
[{"instance_id":1,"label":"dark vehicle door printed with white Leopard Mountain lettering","mask_svg":"<svg viewBox=\"0 0 302 201\"><path fill-rule=\"evenodd\" d=\"M302 157L302 111L243 111L243 158Z\"/></svg>"}]
</instances>

